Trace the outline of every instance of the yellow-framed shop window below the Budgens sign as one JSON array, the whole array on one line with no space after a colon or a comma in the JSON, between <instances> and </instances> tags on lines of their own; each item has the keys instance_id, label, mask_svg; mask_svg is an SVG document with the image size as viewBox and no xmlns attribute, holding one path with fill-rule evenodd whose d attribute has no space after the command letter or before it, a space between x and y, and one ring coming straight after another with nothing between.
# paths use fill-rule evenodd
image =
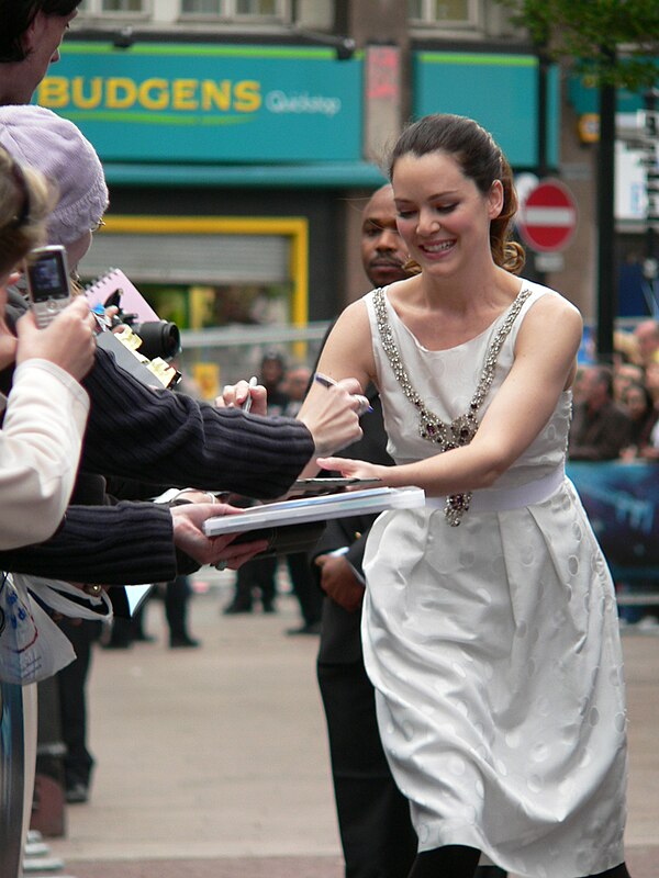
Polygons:
<instances>
[{"instance_id":1,"label":"yellow-framed shop window below the Budgens sign","mask_svg":"<svg viewBox=\"0 0 659 878\"><path fill-rule=\"evenodd\" d=\"M305 325L303 217L112 216L79 266L83 281L121 266L181 329Z\"/></svg>"}]
</instances>

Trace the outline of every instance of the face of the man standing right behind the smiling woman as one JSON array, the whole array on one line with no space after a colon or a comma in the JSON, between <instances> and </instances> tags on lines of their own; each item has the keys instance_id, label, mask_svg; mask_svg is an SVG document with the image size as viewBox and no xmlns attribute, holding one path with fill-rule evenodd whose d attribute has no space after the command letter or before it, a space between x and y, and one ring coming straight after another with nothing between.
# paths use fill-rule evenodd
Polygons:
<instances>
[{"instance_id":1,"label":"face of the man standing right behind the smiling woman","mask_svg":"<svg viewBox=\"0 0 659 878\"><path fill-rule=\"evenodd\" d=\"M403 264L407 252L395 225L395 205L390 185L379 189L361 217L361 263L373 286L387 286L407 277Z\"/></svg>"}]
</instances>

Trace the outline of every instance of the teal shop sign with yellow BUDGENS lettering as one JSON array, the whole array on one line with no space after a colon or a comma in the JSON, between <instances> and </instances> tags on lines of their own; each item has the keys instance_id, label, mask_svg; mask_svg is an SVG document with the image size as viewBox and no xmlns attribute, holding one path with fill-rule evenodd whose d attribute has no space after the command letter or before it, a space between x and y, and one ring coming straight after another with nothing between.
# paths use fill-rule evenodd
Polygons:
<instances>
[{"instance_id":1,"label":"teal shop sign with yellow BUDGENS lettering","mask_svg":"<svg viewBox=\"0 0 659 878\"><path fill-rule=\"evenodd\" d=\"M324 48L66 43L35 100L109 161L358 161L361 59Z\"/></svg>"}]
</instances>

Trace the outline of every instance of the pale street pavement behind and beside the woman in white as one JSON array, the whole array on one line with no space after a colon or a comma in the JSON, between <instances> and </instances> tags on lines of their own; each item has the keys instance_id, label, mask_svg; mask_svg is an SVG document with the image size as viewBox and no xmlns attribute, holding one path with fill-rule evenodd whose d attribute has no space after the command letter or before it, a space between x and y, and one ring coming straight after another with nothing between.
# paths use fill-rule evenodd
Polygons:
<instances>
[{"instance_id":1,"label":"pale street pavement behind and beside the woman in white","mask_svg":"<svg viewBox=\"0 0 659 878\"><path fill-rule=\"evenodd\" d=\"M155 643L98 649L89 684L90 801L46 840L56 878L342 878L317 637L283 594L276 615L223 616L232 574L198 574L191 632L170 650L164 607ZM286 579L282 581L287 587ZM633 878L659 876L659 638L625 632ZM40 873L31 871L30 875Z\"/></svg>"}]
</instances>

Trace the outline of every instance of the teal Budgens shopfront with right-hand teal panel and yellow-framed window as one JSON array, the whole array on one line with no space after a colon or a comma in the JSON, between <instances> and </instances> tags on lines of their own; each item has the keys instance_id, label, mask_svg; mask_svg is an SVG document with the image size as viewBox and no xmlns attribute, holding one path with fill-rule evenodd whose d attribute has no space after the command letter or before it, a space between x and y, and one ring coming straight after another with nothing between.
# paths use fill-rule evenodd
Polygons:
<instances>
[{"instance_id":1,"label":"teal Budgens shopfront with right-hand teal panel and yellow-framed window","mask_svg":"<svg viewBox=\"0 0 659 878\"><path fill-rule=\"evenodd\" d=\"M515 171L536 168L532 52L412 47L409 60L401 91L413 116L471 115ZM338 60L334 49L309 45L150 37L119 48L109 38L68 38L35 101L79 125L105 168L111 206L88 274L112 264L139 283L183 283L188 264L197 285L224 289L243 274L283 290L288 302L275 312L284 322L334 316L366 290L346 266L358 261L355 217L384 182L365 157L365 68L360 50ZM550 70L551 166L560 158L559 104ZM183 320L204 325L191 305Z\"/></svg>"}]
</instances>

